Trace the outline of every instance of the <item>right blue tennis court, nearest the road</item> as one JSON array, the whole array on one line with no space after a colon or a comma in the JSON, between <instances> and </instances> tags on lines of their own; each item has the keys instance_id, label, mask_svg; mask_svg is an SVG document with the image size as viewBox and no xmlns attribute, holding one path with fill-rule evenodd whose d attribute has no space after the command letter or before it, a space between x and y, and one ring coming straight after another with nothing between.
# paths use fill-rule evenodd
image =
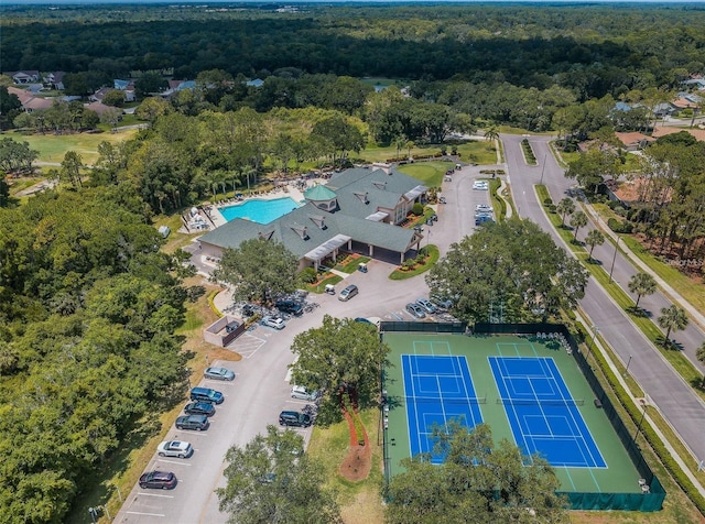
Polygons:
<instances>
[{"instance_id":1,"label":"right blue tennis court, nearest the road","mask_svg":"<svg viewBox=\"0 0 705 524\"><path fill-rule=\"evenodd\" d=\"M606 468L552 358L488 357L517 445L551 466Z\"/></svg>"}]
</instances>

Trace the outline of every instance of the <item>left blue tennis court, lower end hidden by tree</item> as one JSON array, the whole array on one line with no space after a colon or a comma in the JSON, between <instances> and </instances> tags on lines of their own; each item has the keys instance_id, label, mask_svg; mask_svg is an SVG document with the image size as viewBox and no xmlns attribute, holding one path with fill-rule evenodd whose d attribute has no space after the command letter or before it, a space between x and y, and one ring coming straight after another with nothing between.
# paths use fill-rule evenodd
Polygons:
<instances>
[{"instance_id":1,"label":"left blue tennis court, lower end hidden by tree","mask_svg":"<svg viewBox=\"0 0 705 524\"><path fill-rule=\"evenodd\" d=\"M482 422L465 357L402 354L401 361L412 457L433 452L435 425L455 418L471 428ZM432 454L431 461L443 457Z\"/></svg>"}]
</instances>

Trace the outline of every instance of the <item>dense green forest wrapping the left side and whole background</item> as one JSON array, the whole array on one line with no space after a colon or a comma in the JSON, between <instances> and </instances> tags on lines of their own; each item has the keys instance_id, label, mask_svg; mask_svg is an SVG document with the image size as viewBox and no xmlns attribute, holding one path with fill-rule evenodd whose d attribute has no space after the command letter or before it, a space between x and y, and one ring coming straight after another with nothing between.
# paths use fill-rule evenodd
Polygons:
<instances>
[{"instance_id":1,"label":"dense green forest wrapping the left side and whole background","mask_svg":"<svg viewBox=\"0 0 705 524\"><path fill-rule=\"evenodd\" d=\"M268 171L344 165L367 144L400 156L499 124L605 145L568 170L596 189L626 172L614 131L650 132L650 108L705 70L702 6L272 8L0 6L3 72L65 70L77 95L148 72L135 117L149 123L104 142L90 170L69 152L50 172L56 190L20 204L0 186L0 521L62 522L91 471L181 399L173 334L198 290L182 285L178 253L160 252L155 215ZM149 97L162 70L196 88ZM377 75L398 85L355 78ZM7 83L0 111L23 132L97 124L80 101L22 112ZM658 249L698 256L705 148L683 134L647 148L643 201L618 211ZM6 172L35 160L0 140Z\"/></svg>"}]
</instances>

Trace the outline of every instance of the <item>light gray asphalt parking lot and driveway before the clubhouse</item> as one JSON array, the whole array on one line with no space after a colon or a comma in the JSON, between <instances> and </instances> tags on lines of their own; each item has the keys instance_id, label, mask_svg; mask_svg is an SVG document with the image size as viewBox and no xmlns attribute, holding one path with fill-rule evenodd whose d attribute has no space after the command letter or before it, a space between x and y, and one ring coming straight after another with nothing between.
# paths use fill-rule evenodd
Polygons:
<instances>
[{"instance_id":1,"label":"light gray asphalt parking lot and driveway before the clubhouse","mask_svg":"<svg viewBox=\"0 0 705 524\"><path fill-rule=\"evenodd\" d=\"M451 182L443 183L442 194L446 204L438 205L438 221L424 226L427 242L444 254L453 242L470 234L475 229L475 207L489 204L488 192L473 190L473 181L479 177L475 167L455 172ZM426 241L424 241L426 242ZM423 243L422 243L423 245ZM194 256L199 259L199 256ZM123 493L124 503L116 517L120 523L225 523L227 515L218 510L214 490L225 485L224 457L230 446L245 446L268 424L278 424L281 411L301 411L308 404L290 396L289 364L293 354L289 350L294 336L312 327L318 327L324 314L337 317L379 317L382 320L415 320L405 305L429 296L424 275L405 281L391 281L392 264L372 260L368 272L356 272L336 285L336 295L310 295L319 307L301 317L291 317L286 327L275 329L257 326L236 339L230 349L242 354L239 362L210 362L223 364L236 373L232 382L192 378L192 386L200 385L221 391L225 402L217 406L212 425L206 432L176 430L172 428L165 439L192 443L194 455L188 459L154 456L144 471L173 471L178 483L173 490L142 490L135 485ZM199 268L207 271L208 268ZM349 302L338 301L337 293L348 284L356 284L359 295ZM426 316L421 321L434 321ZM186 401L184 401L184 405ZM295 428L307 444L312 428Z\"/></svg>"}]
</instances>

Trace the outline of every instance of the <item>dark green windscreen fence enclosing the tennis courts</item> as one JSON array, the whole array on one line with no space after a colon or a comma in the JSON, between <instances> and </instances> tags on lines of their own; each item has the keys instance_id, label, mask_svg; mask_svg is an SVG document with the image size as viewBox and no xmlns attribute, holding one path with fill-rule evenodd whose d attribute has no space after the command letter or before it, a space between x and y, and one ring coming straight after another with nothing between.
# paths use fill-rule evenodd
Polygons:
<instances>
[{"instance_id":1,"label":"dark green windscreen fence enclosing the tennis courts","mask_svg":"<svg viewBox=\"0 0 705 524\"><path fill-rule=\"evenodd\" d=\"M476 324L471 330L468 330L468 326L465 323L381 323L380 331L398 331L398 332L437 332L437 334L468 334L476 336L484 335L521 335L521 336L539 336L539 338L545 337L551 334L554 337L556 334L565 339L565 342L570 346L571 354L577 362L583 375L587 380L593 393L595 394L596 405L599 404L605 411L607 418L617 433L622 446L627 450L629 458L631 459L634 468L641 477L641 483L643 483L642 493L592 493L592 492L558 492L564 495L571 505L572 510L622 510L622 511L641 511L641 512L654 512L660 511L663 506L663 500L665 499L665 490L661 485L659 479L653 474L653 471L641 455L641 450L636 443L636 435L632 436L625 426L625 423L619 417L617 410L610 402L609 397L605 393L601 384L597 380L593 369L585 360L585 357L578 350L578 345L563 325L555 324ZM386 392L382 392L384 396ZM387 425L384 424L383 432L383 460L384 460L384 477L387 482L390 480L390 458L388 450L387 439Z\"/></svg>"}]
</instances>

